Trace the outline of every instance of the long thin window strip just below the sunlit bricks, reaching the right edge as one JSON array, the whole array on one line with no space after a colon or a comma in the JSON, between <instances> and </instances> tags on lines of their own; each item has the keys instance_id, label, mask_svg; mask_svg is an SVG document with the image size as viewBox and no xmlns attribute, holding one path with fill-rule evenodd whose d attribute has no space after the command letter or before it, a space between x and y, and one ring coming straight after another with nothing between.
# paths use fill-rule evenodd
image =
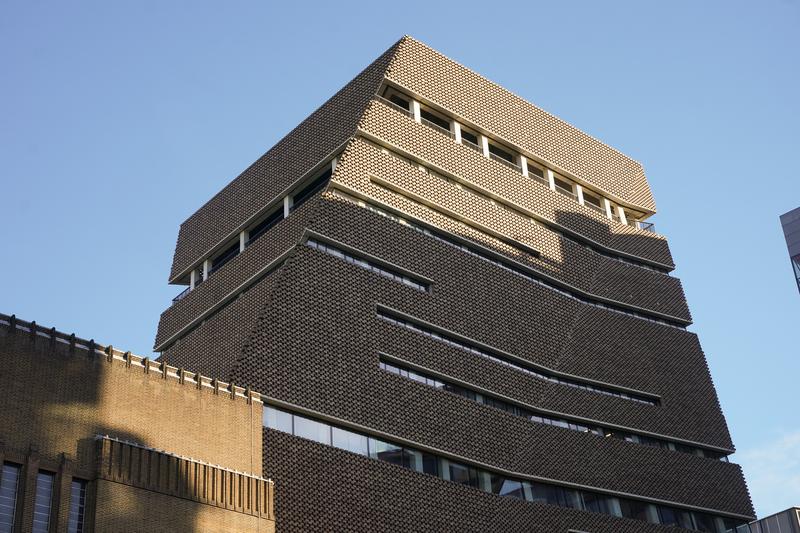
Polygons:
<instances>
[{"instance_id":1,"label":"long thin window strip just below the sunlit bricks, reaching the right edge","mask_svg":"<svg viewBox=\"0 0 800 533\"><path fill-rule=\"evenodd\" d=\"M399 194L396 191L392 191L392 192L395 192L395 194ZM615 312L615 313L620 313L620 314L627 315L627 316L632 316L632 317L635 317L635 318L638 318L638 319L641 319L641 320L647 320L648 322L653 322L653 323L656 323L656 324L661 324L661 325L664 325L664 326L669 326L669 327L672 327L672 328L677 328L677 329L682 329L682 330L686 329L685 325L680 324L680 323L675 323L675 322L673 322L671 320L667 320L667 319L660 318L660 317L654 317L652 315L647 314L646 312L631 311L631 310L625 309L623 307L617 307L616 305L611 304L611 303L605 303L605 302L601 302L599 300L594 300L591 297L588 297L588 295L582 295L582 294L574 293L574 292L572 292L570 290L566 290L566 289L564 289L564 288L562 288L562 287L560 287L558 285L555 285L554 283L551 283L549 280L545 280L543 278L540 278L539 276L535 275L533 273L533 271L529 271L529 270L527 270L525 268L522 268L516 262L513 262L511 260L506 260L502 256L500 256L499 254L498 255L494 255L494 254L492 254L492 253L490 253L488 251L482 250L478 246L471 246L471 245L464 244L460 240L456 240L456 239L452 238L450 235L448 235L444 231L434 230L434 229L431 229L431 228L428 228L428 227L423 227L423 226L421 226L419 224L416 224L414 222L411 222L411 221L409 221L409 220L407 220L405 218L402 218L402 217L399 217L399 216L397 216L395 214L389 213L388 211L386 211L384 209L381 209L380 207L377 207L377 206L375 206L375 205L373 205L373 204L371 204L371 203L369 203L367 201L354 198L354 197L348 195L347 193L343 193L341 191L335 191L335 194L337 196L339 196L340 198L343 198L345 200L348 200L348 201L351 201L353 203L356 203L357 205L359 205L361 207L364 207L365 209L368 209L368 210L372 211L373 213L376 213L376 214L379 214L379 215L381 215L383 217L386 217L386 218L389 218L391 220L394 220L395 222L398 222L398 223L400 223L400 224L402 224L402 225L404 225L406 227L409 227L409 228L411 228L411 229L413 229L415 231L418 231L418 232L422 233L423 235L426 235L426 236L431 237L433 239L436 239L436 240L438 240L438 241L440 241L442 243L445 243L445 244L447 244L449 246L457 248L457 249L459 249L459 250L461 250L461 251L463 251L463 252L465 252L467 254L470 254L470 255L472 255L474 257L478 257L478 258L480 258L480 259L482 259L484 261L492 263L493 265L498 266L498 267L502 268L503 270L506 270L506 271L511 272L511 273L513 273L515 275L521 276L521 277L527 279L528 281L536 283L537 285L541 285L543 287L547 287L548 289L556 291L559 294L561 294L563 296L566 296L566 297L568 297L570 299L577 300L577 301L579 301L581 303L584 303L586 305L591 305L593 307L598 307L600 309L606 309L608 311L612 311L612 312ZM411 202L414 201L411 198L406 198L406 199L411 201ZM417 205L422 209L433 210L432 208L430 208L428 206L424 206L422 204L417 204ZM434 212L436 212L437 214L439 214L441 216L447 216L447 215L444 215L443 213L439 213L438 211L434 211ZM509 244L509 243L507 243L507 244ZM513 246L513 244L511 244L511 245Z\"/></svg>"}]
</instances>

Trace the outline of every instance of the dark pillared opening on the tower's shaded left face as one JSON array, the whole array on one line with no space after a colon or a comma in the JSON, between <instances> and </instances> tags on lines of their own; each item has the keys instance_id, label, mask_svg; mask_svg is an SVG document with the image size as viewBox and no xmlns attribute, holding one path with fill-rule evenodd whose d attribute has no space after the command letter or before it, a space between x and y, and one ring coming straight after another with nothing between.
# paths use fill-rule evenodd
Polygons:
<instances>
[{"instance_id":1,"label":"dark pillared opening on the tower's shaded left face","mask_svg":"<svg viewBox=\"0 0 800 533\"><path fill-rule=\"evenodd\" d=\"M322 174L316 176L310 182L307 182L296 192L289 194L283 199L274 211L270 212L267 216L263 217L260 221L252 224L246 230L232 241L221 252L201 262L199 268L193 269L189 276L184 280L189 286L184 289L180 294L172 299L175 304L182 300L186 295L198 285L203 283L208 277L215 273L217 270L225 266L234 257L242 253L245 248L253 244L259 237L267 232L275 224L289 216L291 212L300 207L306 200L311 198L314 194L322 190L325 185L330 181L333 174L334 164L328 166Z\"/></svg>"}]
</instances>

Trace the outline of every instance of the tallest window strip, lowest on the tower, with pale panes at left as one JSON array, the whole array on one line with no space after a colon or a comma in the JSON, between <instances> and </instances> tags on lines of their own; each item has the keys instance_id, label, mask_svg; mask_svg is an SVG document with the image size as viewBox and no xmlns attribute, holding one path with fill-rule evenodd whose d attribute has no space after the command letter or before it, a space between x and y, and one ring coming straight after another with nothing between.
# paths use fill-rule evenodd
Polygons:
<instances>
[{"instance_id":1,"label":"tallest window strip, lowest on the tower, with pale panes at left","mask_svg":"<svg viewBox=\"0 0 800 533\"><path fill-rule=\"evenodd\" d=\"M499 496L713 533L723 533L741 524L740 520L667 505L655 505L641 500L609 496L590 490L577 490L551 483L515 479L270 405L264 406L264 425L270 429Z\"/></svg>"}]
</instances>

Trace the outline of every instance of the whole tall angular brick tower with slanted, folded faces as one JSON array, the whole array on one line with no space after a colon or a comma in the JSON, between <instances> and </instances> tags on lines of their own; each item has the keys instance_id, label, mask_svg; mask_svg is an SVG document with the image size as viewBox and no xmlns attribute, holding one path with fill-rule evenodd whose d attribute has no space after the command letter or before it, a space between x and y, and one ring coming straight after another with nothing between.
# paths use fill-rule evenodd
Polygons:
<instances>
[{"instance_id":1,"label":"whole tall angular brick tower with slanted, folded faces","mask_svg":"<svg viewBox=\"0 0 800 533\"><path fill-rule=\"evenodd\" d=\"M753 517L639 163L405 37L192 215L157 351L264 393L276 523Z\"/></svg>"}]
</instances>

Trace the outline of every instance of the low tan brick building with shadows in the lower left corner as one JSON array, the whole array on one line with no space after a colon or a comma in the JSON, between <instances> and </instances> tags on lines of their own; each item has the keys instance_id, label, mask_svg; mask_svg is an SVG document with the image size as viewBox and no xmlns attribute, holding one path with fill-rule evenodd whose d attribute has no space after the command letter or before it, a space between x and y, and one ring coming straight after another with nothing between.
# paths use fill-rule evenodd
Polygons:
<instances>
[{"instance_id":1,"label":"low tan brick building with shadows in the lower left corner","mask_svg":"<svg viewBox=\"0 0 800 533\"><path fill-rule=\"evenodd\" d=\"M0 369L0 532L274 533L258 394L6 315Z\"/></svg>"}]
</instances>

